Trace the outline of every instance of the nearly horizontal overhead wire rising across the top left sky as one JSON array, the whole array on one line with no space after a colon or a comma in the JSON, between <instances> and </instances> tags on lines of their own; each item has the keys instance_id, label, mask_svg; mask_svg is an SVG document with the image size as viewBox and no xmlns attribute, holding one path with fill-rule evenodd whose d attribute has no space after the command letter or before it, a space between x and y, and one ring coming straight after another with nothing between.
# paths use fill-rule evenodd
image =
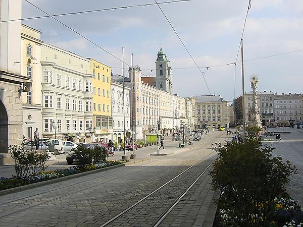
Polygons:
<instances>
[{"instance_id":1,"label":"nearly horizontal overhead wire rising across the top left sky","mask_svg":"<svg viewBox=\"0 0 303 227\"><path fill-rule=\"evenodd\" d=\"M193 0L175 0L175 1L161 2L159 4L170 4L170 3L189 2L189 1L193 1ZM123 7L112 7L112 8L97 9L97 10L86 10L86 11L78 11L78 12L62 13L62 14L53 14L53 15L46 15L46 16L19 18L19 19L0 21L0 23L11 22L11 21L24 21L24 20L40 19L40 18L47 18L47 17L59 17L59 16L84 14L84 13L93 13L93 12L100 12L100 11L120 10L120 9L135 8L135 7L146 7L146 6L153 6L153 5L156 5L156 3L148 3L148 4L142 4L142 5L131 5L131 6L123 6Z\"/></svg>"}]
</instances>

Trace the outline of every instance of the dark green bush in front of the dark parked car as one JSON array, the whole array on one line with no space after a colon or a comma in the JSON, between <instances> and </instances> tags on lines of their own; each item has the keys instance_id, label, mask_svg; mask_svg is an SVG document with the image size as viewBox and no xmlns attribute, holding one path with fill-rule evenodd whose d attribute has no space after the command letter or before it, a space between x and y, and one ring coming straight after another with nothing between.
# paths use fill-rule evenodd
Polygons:
<instances>
[{"instance_id":1,"label":"dark green bush in front of the dark parked car","mask_svg":"<svg viewBox=\"0 0 303 227\"><path fill-rule=\"evenodd\" d=\"M95 146L93 149L78 146L75 149L75 154L78 157L79 168L84 168L85 165L89 165L91 163L94 164L105 161L108 156L107 149L103 146Z\"/></svg>"}]
</instances>

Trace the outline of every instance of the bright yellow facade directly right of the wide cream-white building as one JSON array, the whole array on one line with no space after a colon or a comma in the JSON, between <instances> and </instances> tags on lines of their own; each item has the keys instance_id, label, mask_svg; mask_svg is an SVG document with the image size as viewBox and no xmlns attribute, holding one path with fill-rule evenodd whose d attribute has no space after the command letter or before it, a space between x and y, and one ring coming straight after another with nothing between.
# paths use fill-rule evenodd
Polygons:
<instances>
[{"instance_id":1,"label":"bright yellow facade directly right of the wide cream-white building","mask_svg":"<svg viewBox=\"0 0 303 227\"><path fill-rule=\"evenodd\" d=\"M107 143L113 134L111 104L112 69L94 59L90 60L92 78L93 142Z\"/></svg>"}]
</instances>

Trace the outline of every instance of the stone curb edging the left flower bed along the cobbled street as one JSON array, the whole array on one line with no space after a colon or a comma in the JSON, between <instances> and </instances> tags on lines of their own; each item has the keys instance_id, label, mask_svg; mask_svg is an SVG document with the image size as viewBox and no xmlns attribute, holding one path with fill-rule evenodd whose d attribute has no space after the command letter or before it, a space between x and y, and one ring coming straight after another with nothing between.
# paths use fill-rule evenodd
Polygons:
<instances>
[{"instance_id":1,"label":"stone curb edging the left flower bed along the cobbled street","mask_svg":"<svg viewBox=\"0 0 303 227\"><path fill-rule=\"evenodd\" d=\"M40 186L44 186L44 185L50 185L50 184L54 184L54 183L58 183L58 182L62 182L62 181L67 181L67 180L70 180L70 179L74 179L74 178L78 178L78 177L82 177L82 176L86 176L86 175L90 175L90 174L95 174L95 173L99 173L99 172L103 172L103 171L108 171L112 168L123 167L123 166L125 166L125 164L126 163L112 165L112 166L109 166L109 167L94 169L92 171L86 171L86 172L83 172L83 173L73 174L73 175L69 175L69 176L66 176L66 177L55 178L55 179L51 179L51 180L47 180L47 181L41 181L41 182L29 184L29 185L23 185L23 186L19 186L19 187L15 187L15 188L9 188L9 189L5 189L5 190L1 190L0 191L0 197L4 196L4 195L7 195L7 194L11 194L11 193L15 193L15 192L21 192L21 191L25 191L25 190L28 190L28 189L32 189L32 188L36 188L36 187L40 187Z\"/></svg>"}]
</instances>

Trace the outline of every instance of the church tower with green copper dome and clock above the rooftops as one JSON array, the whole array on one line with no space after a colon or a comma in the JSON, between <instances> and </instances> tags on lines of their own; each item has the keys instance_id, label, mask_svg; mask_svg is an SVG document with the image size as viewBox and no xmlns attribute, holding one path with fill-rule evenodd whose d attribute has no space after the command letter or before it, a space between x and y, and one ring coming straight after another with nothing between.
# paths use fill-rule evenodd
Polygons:
<instances>
[{"instance_id":1,"label":"church tower with green copper dome and clock above the rooftops","mask_svg":"<svg viewBox=\"0 0 303 227\"><path fill-rule=\"evenodd\" d=\"M167 55L163 52L162 47L158 52L158 57L156 60L156 87L172 93L172 77L171 77L171 67Z\"/></svg>"}]
</instances>

